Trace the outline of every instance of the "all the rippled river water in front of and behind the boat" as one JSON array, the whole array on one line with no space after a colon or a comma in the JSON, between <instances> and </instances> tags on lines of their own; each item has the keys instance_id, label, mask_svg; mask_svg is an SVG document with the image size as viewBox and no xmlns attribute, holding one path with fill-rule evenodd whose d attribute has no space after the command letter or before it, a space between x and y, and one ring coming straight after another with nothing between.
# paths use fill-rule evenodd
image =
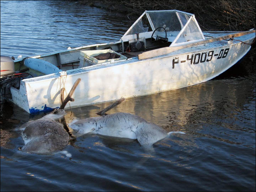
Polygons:
<instances>
[{"instance_id":1,"label":"all the rippled river water in front of and behind the boat","mask_svg":"<svg viewBox=\"0 0 256 192\"><path fill-rule=\"evenodd\" d=\"M1 1L1 54L23 57L116 41L125 15L69 1ZM202 84L128 99L109 111L183 131L146 153L137 141L84 135L72 154L22 153L30 116L1 106L1 191L255 191L255 66L248 57ZM110 103L66 110L66 122L96 117ZM7 141L7 143L5 143Z\"/></svg>"}]
</instances>

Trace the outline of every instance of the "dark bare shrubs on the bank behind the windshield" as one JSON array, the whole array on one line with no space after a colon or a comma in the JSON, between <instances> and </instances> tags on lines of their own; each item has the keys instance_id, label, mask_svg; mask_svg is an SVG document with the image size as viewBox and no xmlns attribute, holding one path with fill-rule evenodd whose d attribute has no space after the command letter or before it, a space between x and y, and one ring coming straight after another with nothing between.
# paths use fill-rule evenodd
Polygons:
<instances>
[{"instance_id":1,"label":"dark bare shrubs on the bank behind the windshield","mask_svg":"<svg viewBox=\"0 0 256 192\"><path fill-rule=\"evenodd\" d=\"M192 13L203 30L246 31L255 28L255 2L233 0L198 1L101 1L113 11L126 10L129 16L138 17L145 10L177 9Z\"/></svg>"}]
</instances>

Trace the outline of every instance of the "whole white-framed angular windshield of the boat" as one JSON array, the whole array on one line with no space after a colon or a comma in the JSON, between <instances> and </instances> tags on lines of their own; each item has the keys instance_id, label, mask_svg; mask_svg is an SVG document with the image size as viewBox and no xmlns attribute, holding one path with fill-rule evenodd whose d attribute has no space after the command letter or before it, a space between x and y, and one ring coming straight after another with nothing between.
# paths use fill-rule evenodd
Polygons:
<instances>
[{"instance_id":1,"label":"whole white-framed angular windshield of the boat","mask_svg":"<svg viewBox=\"0 0 256 192\"><path fill-rule=\"evenodd\" d=\"M204 40L203 33L193 14L178 11L145 11L121 38L122 41L140 38L165 37L167 33L170 46Z\"/></svg>"}]
</instances>

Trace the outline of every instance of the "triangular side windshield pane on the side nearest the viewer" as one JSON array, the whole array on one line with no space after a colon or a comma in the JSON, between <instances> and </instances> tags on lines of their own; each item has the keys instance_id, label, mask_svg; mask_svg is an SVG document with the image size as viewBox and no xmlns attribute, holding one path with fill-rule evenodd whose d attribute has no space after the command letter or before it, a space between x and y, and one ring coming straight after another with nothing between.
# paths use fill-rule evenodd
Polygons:
<instances>
[{"instance_id":1,"label":"triangular side windshield pane on the side nearest the viewer","mask_svg":"<svg viewBox=\"0 0 256 192\"><path fill-rule=\"evenodd\" d=\"M203 39L203 37L200 33L199 28L196 25L196 22L194 21L194 18L192 18L183 33L181 33L181 36L177 39L176 43L195 41L199 39Z\"/></svg>"}]
</instances>

